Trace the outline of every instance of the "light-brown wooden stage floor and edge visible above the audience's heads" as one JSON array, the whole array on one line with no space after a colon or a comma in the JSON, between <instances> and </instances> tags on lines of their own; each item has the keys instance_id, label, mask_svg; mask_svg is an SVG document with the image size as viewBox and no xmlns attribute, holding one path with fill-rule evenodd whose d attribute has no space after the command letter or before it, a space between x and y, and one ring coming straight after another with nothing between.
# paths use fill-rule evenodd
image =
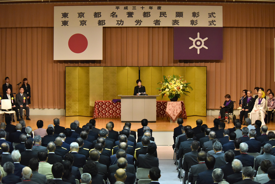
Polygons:
<instances>
[{"instance_id":1,"label":"light-brown wooden stage floor and edge visible above the audience's heads","mask_svg":"<svg viewBox=\"0 0 275 184\"><path fill-rule=\"evenodd\" d=\"M213 127L213 120L218 116L187 116L187 119L183 119L183 125L190 125L192 128L196 126L196 120L202 119L203 124L207 124L209 128ZM65 128L70 128L70 124L74 120L78 120L80 122L80 127L87 124L90 119L93 117L84 117L84 116L30 116L31 120L25 120L26 126L31 126L32 130L37 129L36 122L38 120L42 120L44 122L44 129L47 129L48 124L53 124L54 118L60 119L60 126ZM238 117L237 117L238 118ZM26 119L26 118L25 118ZM121 131L123 129L124 123L121 123L120 118L97 118L96 120L96 128L101 129L105 128L106 124L112 121L115 125L114 130ZM13 122L12 124L16 125L19 123L18 121ZM156 123L149 123L148 126L150 129L156 132L173 132L174 128L178 126L177 123L170 123L169 118L157 118ZM230 121L230 124L225 122L226 128L234 127L233 123ZM271 123L267 124L268 130L275 130L275 123L271 121ZM131 129L137 131L137 129L141 128L141 123L132 123Z\"/></svg>"}]
</instances>

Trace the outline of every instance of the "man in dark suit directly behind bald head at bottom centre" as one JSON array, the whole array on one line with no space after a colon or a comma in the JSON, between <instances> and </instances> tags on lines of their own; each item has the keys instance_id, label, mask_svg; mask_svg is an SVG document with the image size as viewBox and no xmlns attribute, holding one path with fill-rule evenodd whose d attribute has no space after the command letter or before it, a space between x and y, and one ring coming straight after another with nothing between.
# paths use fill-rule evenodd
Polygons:
<instances>
[{"instance_id":1,"label":"man in dark suit directly behind bald head at bottom centre","mask_svg":"<svg viewBox=\"0 0 275 184\"><path fill-rule=\"evenodd\" d=\"M123 170L126 171L126 168L127 168L127 165L128 165L127 160L125 158L121 157L121 158L118 159L118 164L117 165L120 169L123 169ZM109 181L111 182L111 184L115 183L115 181L116 181L114 175L115 175L115 173L110 173L110 175L109 175ZM135 174L132 174L132 173L126 171L126 175L127 175L127 178L124 181L125 183L135 183L135 180L136 180Z\"/></svg>"}]
</instances>

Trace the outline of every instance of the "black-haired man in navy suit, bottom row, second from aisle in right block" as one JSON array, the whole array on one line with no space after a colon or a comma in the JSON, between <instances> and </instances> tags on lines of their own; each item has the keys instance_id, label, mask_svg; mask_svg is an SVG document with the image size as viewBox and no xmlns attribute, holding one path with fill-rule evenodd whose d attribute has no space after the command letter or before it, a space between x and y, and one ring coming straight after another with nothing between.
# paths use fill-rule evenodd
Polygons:
<instances>
[{"instance_id":1,"label":"black-haired man in navy suit, bottom row, second from aisle in right block","mask_svg":"<svg viewBox=\"0 0 275 184\"><path fill-rule=\"evenodd\" d=\"M207 170L198 174L197 184L213 184L212 172L214 171L215 158L212 155L208 155L205 159L205 165Z\"/></svg>"}]
</instances>

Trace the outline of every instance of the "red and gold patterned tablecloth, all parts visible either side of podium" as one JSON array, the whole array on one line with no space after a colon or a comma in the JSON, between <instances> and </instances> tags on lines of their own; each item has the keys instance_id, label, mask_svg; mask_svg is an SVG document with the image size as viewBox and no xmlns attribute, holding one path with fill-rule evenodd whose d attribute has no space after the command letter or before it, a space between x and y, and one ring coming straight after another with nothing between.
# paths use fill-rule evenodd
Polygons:
<instances>
[{"instance_id":1,"label":"red and gold patterned tablecloth, all parts visible either side of podium","mask_svg":"<svg viewBox=\"0 0 275 184\"><path fill-rule=\"evenodd\" d=\"M180 118L186 119L184 102L181 102L182 113ZM167 101L157 101L157 118L167 118L165 113ZM121 103L113 101L95 101L93 118L121 118Z\"/></svg>"}]
</instances>

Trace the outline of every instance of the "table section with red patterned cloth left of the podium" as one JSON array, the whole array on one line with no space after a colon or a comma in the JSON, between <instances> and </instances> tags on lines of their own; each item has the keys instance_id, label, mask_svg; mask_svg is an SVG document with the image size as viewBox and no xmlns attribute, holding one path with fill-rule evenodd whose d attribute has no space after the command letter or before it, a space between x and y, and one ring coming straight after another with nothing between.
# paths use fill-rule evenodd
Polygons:
<instances>
[{"instance_id":1,"label":"table section with red patterned cloth left of the podium","mask_svg":"<svg viewBox=\"0 0 275 184\"><path fill-rule=\"evenodd\" d=\"M95 101L93 118L120 118L121 103L113 101Z\"/></svg>"}]
</instances>

